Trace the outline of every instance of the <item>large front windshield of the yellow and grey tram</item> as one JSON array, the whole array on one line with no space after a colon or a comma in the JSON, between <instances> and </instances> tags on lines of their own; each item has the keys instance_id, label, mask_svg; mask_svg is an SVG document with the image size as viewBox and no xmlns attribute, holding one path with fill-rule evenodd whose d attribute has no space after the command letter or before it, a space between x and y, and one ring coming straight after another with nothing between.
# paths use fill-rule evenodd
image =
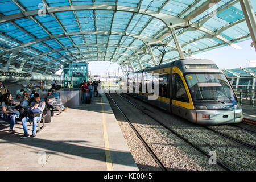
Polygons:
<instances>
[{"instance_id":1,"label":"large front windshield of the yellow and grey tram","mask_svg":"<svg viewBox=\"0 0 256 182\"><path fill-rule=\"evenodd\" d=\"M187 73L193 102L237 104L236 96L223 73Z\"/></svg>"}]
</instances>

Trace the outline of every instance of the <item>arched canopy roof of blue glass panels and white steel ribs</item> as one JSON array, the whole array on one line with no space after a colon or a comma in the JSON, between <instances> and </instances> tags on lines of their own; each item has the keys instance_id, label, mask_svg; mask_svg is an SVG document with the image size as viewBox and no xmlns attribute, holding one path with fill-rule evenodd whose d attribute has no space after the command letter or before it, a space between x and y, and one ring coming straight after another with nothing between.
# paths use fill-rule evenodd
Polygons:
<instances>
[{"instance_id":1,"label":"arched canopy roof of blue glass panels and white steel ribs","mask_svg":"<svg viewBox=\"0 0 256 182\"><path fill-rule=\"evenodd\" d=\"M256 1L251 1L256 10ZM176 33L172 30L175 28ZM172 32L172 33L171 33ZM250 39L238 0L0 0L0 64L55 73L73 61L135 69Z\"/></svg>"}]
</instances>

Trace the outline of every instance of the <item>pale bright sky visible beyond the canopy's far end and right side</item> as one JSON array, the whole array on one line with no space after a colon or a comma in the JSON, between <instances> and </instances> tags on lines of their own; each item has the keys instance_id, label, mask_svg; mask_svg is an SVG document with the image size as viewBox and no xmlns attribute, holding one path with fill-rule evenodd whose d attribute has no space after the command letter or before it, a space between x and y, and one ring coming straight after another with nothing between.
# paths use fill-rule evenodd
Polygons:
<instances>
[{"instance_id":1,"label":"pale bright sky visible beyond the canopy's far end and right side","mask_svg":"<svg viewBox=\"0 0 256 182\"><path fill-rule=\"evenodd\" d=\"M245 40L236 43L241 49L235 49L231 46L224 46L221 48L213 49L211 51L198 53L195 56L201 59L209 59L214 61L220 69L231 68L246 68L249 67L249 60L256 60L256 52L254 47L251 47L252 40ZM110 62L89 62L88 70L92 75L114 75L114 71L118 75L119 65ZM122 75L121 69L119 69Z\"/></svg>"}]
</instances>

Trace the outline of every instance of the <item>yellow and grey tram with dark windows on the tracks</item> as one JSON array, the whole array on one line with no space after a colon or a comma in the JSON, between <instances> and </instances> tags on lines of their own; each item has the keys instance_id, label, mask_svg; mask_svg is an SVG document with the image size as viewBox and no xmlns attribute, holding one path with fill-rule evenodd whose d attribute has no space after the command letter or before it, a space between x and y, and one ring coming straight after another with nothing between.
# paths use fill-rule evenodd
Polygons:
<instances>
[{"instance_id":1,"label":"yellow and grey tram with dark windows on the tracks","mask_svg":"<svg viewBox=\"0 0 256 182\"><path fill-rule=\"evenodd\" d=\"M149 100L154 93L148 93L147 89L142 93L142 87L152 84L155 74L159 75L159 96ZM232 85L210 60L182 59L128 73L121 78L121 85L124 93L194 123L215 125L242 121L242 109Z\"/></svg>"}]
</instances>

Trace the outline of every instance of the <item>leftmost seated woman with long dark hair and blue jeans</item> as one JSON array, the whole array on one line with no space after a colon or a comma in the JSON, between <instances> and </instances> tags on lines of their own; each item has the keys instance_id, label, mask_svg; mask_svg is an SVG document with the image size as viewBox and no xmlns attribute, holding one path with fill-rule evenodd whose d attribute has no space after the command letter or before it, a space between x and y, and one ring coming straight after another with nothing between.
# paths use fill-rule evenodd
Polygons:
<instances>
[{"instance_id":1,"label":"leftmost seated woman with long dark hair and blue jeans","mask_svg":"<svg viewBox=\"0 0 256 182\"><path fill-rule=\"evenodd\" d=\"M2 111L3 115L9 115L9 117L3 117L6 122L10 123L10 130L9 133L14 134L15 130L13 130L16 117L19 117L18 109L11 110L11 105L13 104L13 97L11 97L10 93L3 94L3 100L2 100ZM15 113L14 113L15 112Z\"/></svg>"}]
</instances>

